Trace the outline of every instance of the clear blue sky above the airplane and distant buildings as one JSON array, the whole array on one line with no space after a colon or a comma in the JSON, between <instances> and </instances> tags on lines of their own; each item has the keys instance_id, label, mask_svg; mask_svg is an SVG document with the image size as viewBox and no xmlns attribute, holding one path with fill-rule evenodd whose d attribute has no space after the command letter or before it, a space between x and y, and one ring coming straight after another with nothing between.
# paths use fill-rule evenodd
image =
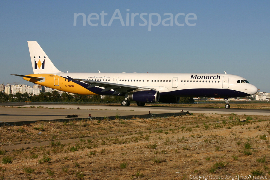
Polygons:
<instances>
[{"instance_id":1,"label":"clear blue sky above the airplane and distant buildings","mask_svg":"<svg viewBox=\"0 0 270 180\"><path fill-rule=\"evenodd\" d=\"M1 1L0 80L33 85L9 74L31 74L27 41L38 41L61 71L68 72L161 72L226 73L246 78L261 91L270 93L270 1ZM126 25L113 19L119 9ZM129 12L127 12L129 9ZM77 17L73 26L74 13ZM87 17L98 26L90 26ZM131 14L147 13L144 21ZM151 26L149 14L161 16ZM162 20L173 14L173 26ZM177 26L174 17L178 13ZM185 16L196 19L185 23ZM117 14L115 17L118 17ZM95 16L91 16L95 17ZM194 16L189 16L194 17ZM152 23L158 16L152 15ZM170 20L165 22L170 24Z\"/></svg>"}]
</instances>

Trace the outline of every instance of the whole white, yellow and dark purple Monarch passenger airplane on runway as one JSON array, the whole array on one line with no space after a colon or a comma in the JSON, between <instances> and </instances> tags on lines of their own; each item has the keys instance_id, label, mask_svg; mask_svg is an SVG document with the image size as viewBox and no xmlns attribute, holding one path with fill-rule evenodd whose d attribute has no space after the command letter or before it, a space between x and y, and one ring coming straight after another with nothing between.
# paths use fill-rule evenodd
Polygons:
<instances>
[{"instance_id":1,"label":"whole white, yellow and dark purple Monarch passenger airplane on runway","mask_svg":"<svg viewBox=\"0 0 270 180\"><path fill-rule=\"evenodd\" d=\"M122 106L136 101L178 103L180 97L229 98L245 97L258 91L247 79L219 73L64 73L58 70L37 41L27 41L33 74L22 79L60 91L81 95L124 96Z\"/></svg>"}]
</instances>

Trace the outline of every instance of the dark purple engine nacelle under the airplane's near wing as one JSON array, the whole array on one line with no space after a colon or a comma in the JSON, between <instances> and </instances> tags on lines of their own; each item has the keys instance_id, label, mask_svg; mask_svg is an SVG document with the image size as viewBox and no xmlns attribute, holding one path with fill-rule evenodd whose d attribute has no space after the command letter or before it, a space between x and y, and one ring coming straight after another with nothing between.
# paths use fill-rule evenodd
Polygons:
<instances>
[{"instance_id":1,"label":"dark purple engine nacelle under the airplane's near wing","mask_svg":"<svg viewBox=\"0 0 270 180\"><path fill-rule=\"evenodd\" d=\"M130 101L155 103L159 101L159 92L154 90L136 91L128 93Z\"/></svg>"}]
</instances>

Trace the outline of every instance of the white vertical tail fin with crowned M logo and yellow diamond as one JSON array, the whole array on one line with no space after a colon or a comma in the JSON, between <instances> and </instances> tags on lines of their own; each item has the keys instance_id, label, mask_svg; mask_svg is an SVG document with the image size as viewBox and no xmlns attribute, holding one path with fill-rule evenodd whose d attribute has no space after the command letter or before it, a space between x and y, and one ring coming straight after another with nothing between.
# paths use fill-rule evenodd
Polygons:
<instances>
[{"instance_id":1,"label":"white vertical tail fin with crowned M logo and yellow diamond","mask_svg":"<svg viewBox=\"0 0 270 180\"><path fill-rule=\"evenodd\" d=\"M27 41L27 43L34 74L62 73L53 65L37 41Z\"/></svg>"}]
</instances>

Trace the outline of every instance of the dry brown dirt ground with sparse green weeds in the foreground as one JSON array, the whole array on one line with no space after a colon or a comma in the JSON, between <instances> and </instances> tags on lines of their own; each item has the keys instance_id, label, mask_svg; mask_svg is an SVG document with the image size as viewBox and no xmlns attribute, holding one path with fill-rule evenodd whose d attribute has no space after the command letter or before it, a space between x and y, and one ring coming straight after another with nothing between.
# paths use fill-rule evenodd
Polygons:
<instances>
[{"instance_id":1,"label":"dry brown dirt ground with sparse green weeds in the foreground","mask_svg":"<svg viewBox=\"0 0 270 180\"><path fill-rule=\"evenodd\" d=\"M270 179L269 116L38 122L0 136L0 179Z\"/></svg>"}]
</instances>

